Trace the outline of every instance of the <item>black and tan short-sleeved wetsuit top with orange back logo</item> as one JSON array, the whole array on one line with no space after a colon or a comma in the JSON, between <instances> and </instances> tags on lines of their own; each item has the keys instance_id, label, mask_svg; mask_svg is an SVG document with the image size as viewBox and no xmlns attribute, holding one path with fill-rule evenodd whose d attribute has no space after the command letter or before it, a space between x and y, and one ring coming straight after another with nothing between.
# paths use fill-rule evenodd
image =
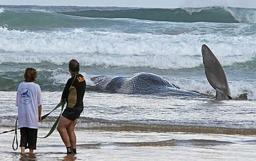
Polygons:
<instances>
[{"instance_id":1,"label":"black and tan short-sleeved wetsuit top with orange back logo","mask_svg":"<svg viewBox=\"0 0 256 161\"><path fill-rule=\"evenodd\" d=\"M84 77L81 74L73 74L67 81L61 99L66 99L67 107L69 108L81 108L83 107L85 89L86 82Z\"/></svg>"}]
</instances>

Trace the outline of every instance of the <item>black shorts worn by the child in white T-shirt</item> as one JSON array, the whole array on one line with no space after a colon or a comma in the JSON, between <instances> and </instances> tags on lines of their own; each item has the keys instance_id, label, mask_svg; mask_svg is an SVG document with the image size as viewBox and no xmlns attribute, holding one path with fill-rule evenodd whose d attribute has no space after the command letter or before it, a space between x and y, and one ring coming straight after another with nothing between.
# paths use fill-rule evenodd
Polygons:
<instances>
[{"instance_id":1,"label":"black shorts worn by the child in white T-shirt","mask_svg":"<svg viewBox=\"0 0 256 161\"><path fill-rule=\"evenodd\" d=\"M37 129L20 128L20 147L36 149Z\"/></svg>"}]
</instances>

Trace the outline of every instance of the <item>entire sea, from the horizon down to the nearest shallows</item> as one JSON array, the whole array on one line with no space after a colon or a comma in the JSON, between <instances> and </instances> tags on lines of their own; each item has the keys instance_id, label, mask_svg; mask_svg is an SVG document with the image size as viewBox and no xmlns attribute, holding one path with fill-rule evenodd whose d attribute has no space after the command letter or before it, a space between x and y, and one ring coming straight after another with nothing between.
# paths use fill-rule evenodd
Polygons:
<instances>
[{"instance_id":1,"label":"entire sea, from the horizon down to the nearest shallows","mask_svg":"<svg viewBox=\"0 0 256 161\"><path fill-rule=\"evenodd\" d=\"M222 64L234 100L212 99L202 44ZM79 154L65 155L57 132L38 140L33 157L12 150L13 133L1 134L0 154L6 160L253 161L255 47L256 9L0 6L0 132L14 127L15 91L27 67L38 72L43 114L61 98L69 60L80 62L88 85L77 124ZM91 81L142 72L206 97L99 91ZM39 135L59 112L40 123Z\"/></svg>"}]
</instances>

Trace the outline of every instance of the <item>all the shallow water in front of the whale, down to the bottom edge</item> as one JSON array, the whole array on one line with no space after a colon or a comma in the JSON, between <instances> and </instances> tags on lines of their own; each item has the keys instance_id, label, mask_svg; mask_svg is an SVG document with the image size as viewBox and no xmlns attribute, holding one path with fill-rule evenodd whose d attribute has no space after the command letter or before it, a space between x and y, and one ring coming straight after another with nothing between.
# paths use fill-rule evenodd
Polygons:
<instances>
[{"instance_id":1,"label":"all the shallow water in front of the whale, down to the bottom edge","mask_svg":"<svg viewBox=\"0 0 256 161\"><path fill-rule=\"evenodd\" d=\"M42 114L46 114L57 105L61 92L43 92L43 97ZM0 98L2 132L13 129L17 108L15 92L0 92ZM84 102L76 126L78 154L65 154L55 130L47 139L38 139L32 160L254 161L256 157L255 101L89 92ZM59 112L40 123L38 136L47 134ZM29 158L13 151L12 141L13 132L1 134L0 154L6 160Z\"/></svg>"}]
</instances>

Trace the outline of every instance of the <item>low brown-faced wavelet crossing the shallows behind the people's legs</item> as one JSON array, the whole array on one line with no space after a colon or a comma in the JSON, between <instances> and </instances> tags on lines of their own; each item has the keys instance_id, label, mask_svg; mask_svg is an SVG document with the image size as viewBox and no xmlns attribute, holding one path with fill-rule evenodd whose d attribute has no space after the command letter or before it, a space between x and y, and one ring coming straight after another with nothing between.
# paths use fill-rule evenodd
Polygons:
<instances>
[{"instance_id":1,"label":"low brown-faced wavelet crossing the shallows behind the people's legs","mask_svg":"<svg viewBox=\"0 0 256 161\"><path fill-rule=\"evenodd\" d=\"M1 118L0 126L13 127L16 117ZM39 124L40 128L51 128L56 120L48 117ZM107 131L147 131L147 132L193 132L228 135L255 135L256 129L229 128L203 125L177 125L177 124L154 124L122 121L108 121L96 118L80 118L76 128L84 130L107 130ZM2 132L2 131L1 131Z\"/></svg>"}]
</instances>

